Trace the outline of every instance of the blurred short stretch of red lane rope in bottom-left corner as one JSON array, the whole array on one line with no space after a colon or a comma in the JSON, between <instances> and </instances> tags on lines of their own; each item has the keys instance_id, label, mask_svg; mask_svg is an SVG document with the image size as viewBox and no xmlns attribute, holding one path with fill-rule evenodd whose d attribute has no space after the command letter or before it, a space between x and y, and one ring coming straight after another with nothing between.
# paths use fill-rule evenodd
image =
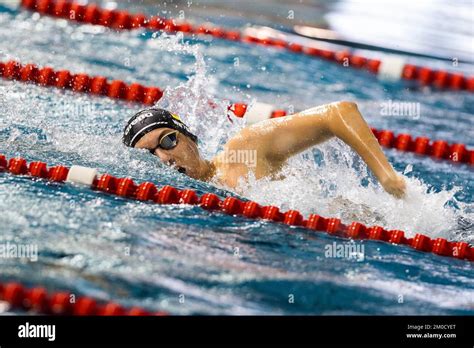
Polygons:
<instances>
[{"instance_id":1,"label":"blurred short stretch of red lane rope in bottom-left corner","mask_svg":"<svg viewBox=\"0 0 474 348\"><path fill-rule=\"evenodd\" d=\"M67 291L48 292L43 287L27 288L17 282L0 282L0 301L7 302L12 309L43 315L169 315L167 312L150 312L139 307L125 308L115 302L102 302L92 297L75 296Z\"/></svg>"}]
</instances>

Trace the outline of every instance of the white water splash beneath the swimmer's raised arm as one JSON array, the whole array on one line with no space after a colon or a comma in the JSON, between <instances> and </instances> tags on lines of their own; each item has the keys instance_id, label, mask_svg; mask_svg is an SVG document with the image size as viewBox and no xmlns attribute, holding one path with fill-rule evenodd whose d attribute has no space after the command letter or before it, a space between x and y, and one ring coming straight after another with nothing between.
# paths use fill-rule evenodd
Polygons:
<instances>
[{"instance_id":1,"label":"white water splash beneath the swimmer's raised arm","mask_svg":"<svg viewBox=\"0 0 474 348\"><path fill-rule=\"evenodd\" d=\"M319 163L315 155L322 156ZM260 204L296 209L304 215L338 217L345 223L359 221L402 229L408 236L425 233L466 240L472 235L456 234L461 216L472 219L465 205L454 197L461 188L435 192L422 179L405 176L407 195L396 199L383 190L358 156L340 141L330 141L291 159L283 174L281 181L251 177L239 189L245 197ZM453 202L460 209L454 208Z\"/></svg>"}]
</instances>

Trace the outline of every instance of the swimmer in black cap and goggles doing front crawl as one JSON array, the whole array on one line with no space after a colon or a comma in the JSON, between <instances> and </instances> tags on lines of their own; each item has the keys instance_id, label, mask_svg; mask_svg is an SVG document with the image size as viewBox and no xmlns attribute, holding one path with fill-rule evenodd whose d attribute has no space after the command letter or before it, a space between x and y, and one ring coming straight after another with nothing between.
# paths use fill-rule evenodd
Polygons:
<instances>
[{"instance_id":1,"label":"swimmer in black cap and goggles doing front crawl","mask_svg":"<svg viewBox=\"0 0 474 348\"><path fill-rule=\"evenodd\" d=\"M145 109L134 115L124 129L123 142L129 147L147 149L166 165L194 179L215 180L236 188L249 173L256 179L278 179L290 157L333 137L359 154L385 191L397 198L405 195L404 179L388 162L353 102L318 106L245 127L211 160L201 157L197 137L179 116L163 109ZM235 156L244 153L255 154L254 160L249 161L247 156L242 161ZM231 156L234 160L229 160Z\"/></svg>"}]
</instances>

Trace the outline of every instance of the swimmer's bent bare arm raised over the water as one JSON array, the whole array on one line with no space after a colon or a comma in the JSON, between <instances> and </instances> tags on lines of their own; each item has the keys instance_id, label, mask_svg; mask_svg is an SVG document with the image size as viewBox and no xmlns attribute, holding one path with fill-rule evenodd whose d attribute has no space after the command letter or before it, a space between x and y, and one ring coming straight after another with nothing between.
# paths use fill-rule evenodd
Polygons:
<instances>
[{"instance_id":1,"label":"swimmer's bent bare arm raised over the water","mask_svg":"<svg viewBox=\"0 0 474 348\"><path fill-rule=\"evenodd\" d=\"M388 193L399 198L405 194L403 178L388 162L353 102L336 102L269 119L244 129L241 135L258 143L258 151L263 151L267 163L275 168L289 157L335 136L359 154Z\"/></svg>"}]
</instances>

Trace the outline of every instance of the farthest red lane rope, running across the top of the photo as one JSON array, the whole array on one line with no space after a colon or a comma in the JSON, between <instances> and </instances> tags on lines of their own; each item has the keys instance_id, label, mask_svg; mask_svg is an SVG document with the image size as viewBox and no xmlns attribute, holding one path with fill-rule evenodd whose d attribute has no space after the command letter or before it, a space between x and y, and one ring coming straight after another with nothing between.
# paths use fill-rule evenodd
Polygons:
<instances>
[{"instance_id":1,"label":"farthest red lane rope, running across the top of the photo","mask_svg":"<svg viewBox=\"0 0 474 348\"><path fill-rule=\"evenodd\" d=\"M43 15L69 19L81 23L102 25L112 29L130 30L146 28L166 32L211 35L219 39L241 41L274 48L286 49L294 53L323 58L345 67L364 69L382 79L418 81L421 85L440 89L466 90L474 92L474 76L465 76L445 70L406 64L397 57L370 59L351 54L348 51L333 51L318 46L303 46L282 39L273 38L262 31L247 29L243 32L227 30L209 25L192 25L185 21L176 21L158 16L146 17L143 14L131 14L121 10L107 10L95 4L83 5L68 0L21 0L21 6Z\"/></svg>"}]
</instances>

